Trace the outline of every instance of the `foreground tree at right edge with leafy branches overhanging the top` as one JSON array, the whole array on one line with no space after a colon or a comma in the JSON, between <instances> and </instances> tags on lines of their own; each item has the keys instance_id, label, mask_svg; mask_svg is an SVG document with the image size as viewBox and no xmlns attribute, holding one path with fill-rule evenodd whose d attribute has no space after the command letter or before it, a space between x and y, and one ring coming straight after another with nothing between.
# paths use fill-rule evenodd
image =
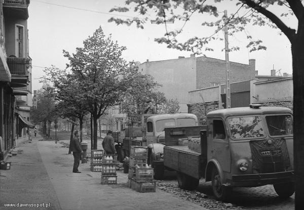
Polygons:
<instances>
[{"instance_id":1,"label":"foreground tree at right edge with leafy branches overhanging the top","mask_svg":"<svg viewBox=\"0 0 304 210\"><path fill-rule=\"evenodd\" d=\"M213 4L212 4L213 2ZM109 22L115 21L117 24L131 25L136 23L137 27L143 28L144 23L148 21L147 14L154 13L156 15L156 23L166 23L168 21L183 20L189 21L194 13L210 14L218 17L216 3L222 4L222 0L201 1L201 0L162 0L162 1L145 1L145 0L128 0L126 5L132 6L134 12L139 13L143 18L122 20L119 18L111 18ZM295 208L301 208L301 202L304 199L304 6L303 0L240 0L231 1L236 4L236 13L230 17L223 17L214 22L203 22L203 25L216 27L215 34L225 25L229 28L229 34L232 35L238 31L243 31L246 25L253 24L258 26L270 26L278 28L281 33L286 35L291 43L292 69L293 69L293 116L294 116L294 170L296 174L295 188ZM211 5L212 4L212 5ZM285 12L280 16L275 15L272 9L280 7ZM129 8L113 8L110 10L118 12L127 12ZM178 10L182 10L178 13ZM238 12L243 10L243 16L238 16ZM284 17L293 16L297 19L297 28L290 28L284 23ZM166 27L167 29L167 27ZM194 53L202 53L213 50L208 47L211 40L217 39L215 36L209 37L191 37L184 43L177 40L177 35L182 29L168 32L165 36L156 38L158 43L165 43L168 48L178 50L193 51ZM247 36L250 51L265 50L261 40L253 40L250 35ZM230 50L238 50L239 47L231 47Z\"/></svg>"}]
</instances>

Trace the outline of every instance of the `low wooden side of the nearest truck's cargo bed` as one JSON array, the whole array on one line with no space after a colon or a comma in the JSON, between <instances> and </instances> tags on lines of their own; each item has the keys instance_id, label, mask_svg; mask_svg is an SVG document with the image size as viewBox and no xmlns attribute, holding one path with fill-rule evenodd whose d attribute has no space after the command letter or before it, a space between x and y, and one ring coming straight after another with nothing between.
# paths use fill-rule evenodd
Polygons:
<instances>
[{"instance_id":1,"label":"low wooden side of the nearest truck's cargo bed","mask_svg":"<svg viewBox=\"0 0 304 210\"><path fill-rule=\"evenodd\" d=\"M188 146L164 147L164 165L196 179L201 178L201 163L205 160L199 152L190 150Z\"/></svg>"}]
</instances>

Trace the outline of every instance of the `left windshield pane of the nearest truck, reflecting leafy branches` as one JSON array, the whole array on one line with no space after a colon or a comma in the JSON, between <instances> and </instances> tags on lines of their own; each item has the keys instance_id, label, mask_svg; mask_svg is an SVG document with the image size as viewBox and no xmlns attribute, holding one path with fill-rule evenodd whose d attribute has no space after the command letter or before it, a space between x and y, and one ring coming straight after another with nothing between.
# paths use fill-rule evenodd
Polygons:
<instances>
[{"instance_id":1,"label":"left windshield pane of the nearest truck, reflecting leafy branches","mask_svg":"<svg viewBox=\"0 0 304 210\"><path fill-rule=\"evenodd\" d=\"M232 139L260 138L264 136L259 116L232 117L228 119Z\"/></svg>"}]
</instances>

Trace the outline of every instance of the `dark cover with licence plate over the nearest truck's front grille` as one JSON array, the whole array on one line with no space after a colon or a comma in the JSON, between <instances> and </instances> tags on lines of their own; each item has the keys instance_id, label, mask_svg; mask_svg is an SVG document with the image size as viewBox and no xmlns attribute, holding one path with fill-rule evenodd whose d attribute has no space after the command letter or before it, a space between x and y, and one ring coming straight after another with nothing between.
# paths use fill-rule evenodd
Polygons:
<instances>
[{"instance_id":1,"label":"dark cover with licence plate over the nearest truck's front grille","mask_svg":"<svg viewBox=\"0 0 304 210\"><path fill-rule=\"evenodd\" d=\"M285 139L250 141L254 174L284 172L290 169Z\"/></svg>"}]
</instances>

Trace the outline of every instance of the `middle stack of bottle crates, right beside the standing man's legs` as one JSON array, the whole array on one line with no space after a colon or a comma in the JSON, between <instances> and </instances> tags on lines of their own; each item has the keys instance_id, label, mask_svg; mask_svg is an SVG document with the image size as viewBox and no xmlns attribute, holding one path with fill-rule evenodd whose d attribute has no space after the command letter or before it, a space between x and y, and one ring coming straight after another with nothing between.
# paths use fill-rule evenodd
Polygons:
<instances>
[{"instance_id":1,"label":"middle stack of bottle crates, right beside the standing man's legs","mask_svg":"<svg viewBox=\"0 0 304 210\"><path fill-rule=\"evenodd\" d=\"M117 155L104 154L101 162L101 184L117 184Z\"/></svg>"}]
</instances>

